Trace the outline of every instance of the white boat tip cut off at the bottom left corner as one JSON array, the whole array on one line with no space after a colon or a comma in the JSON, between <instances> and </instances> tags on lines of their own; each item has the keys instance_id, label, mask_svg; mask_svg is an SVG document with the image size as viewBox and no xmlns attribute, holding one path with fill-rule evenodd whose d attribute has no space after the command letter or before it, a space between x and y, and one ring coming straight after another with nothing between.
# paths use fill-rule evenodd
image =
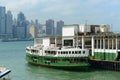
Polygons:
<instances>
[{"instance_id":1,"label":"white boat tip cut off at the bottom left corner","mask_svg":"<svg viewBox=\"0 0 120 80\"><path fill-rule=\"evenodd\" d=\"M11 72L11 70L6 69L5 67L0 67L0 79L3 78L3 80L11 80L10 78L5 78L6 75L8 75Z\"/></svg>"}]
</instances>

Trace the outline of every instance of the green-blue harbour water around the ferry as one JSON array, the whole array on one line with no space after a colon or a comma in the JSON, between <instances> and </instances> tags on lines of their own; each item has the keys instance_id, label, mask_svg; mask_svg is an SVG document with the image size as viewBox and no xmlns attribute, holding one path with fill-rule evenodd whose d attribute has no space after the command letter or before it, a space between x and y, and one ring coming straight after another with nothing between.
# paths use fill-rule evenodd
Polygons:
<instances>
[{"instance_id":1,"label":"green-blue harbour water around the ferry","mask_svg":"<svg viewBox=\"0 0 120 80\"><path fill-rule=\"evenodd\" d=\"M25 47L33 42L0 42L0 66L11 69L12 80L120 80L120 72L71 72L27 64Z\"/></svg>"}]
</instances>

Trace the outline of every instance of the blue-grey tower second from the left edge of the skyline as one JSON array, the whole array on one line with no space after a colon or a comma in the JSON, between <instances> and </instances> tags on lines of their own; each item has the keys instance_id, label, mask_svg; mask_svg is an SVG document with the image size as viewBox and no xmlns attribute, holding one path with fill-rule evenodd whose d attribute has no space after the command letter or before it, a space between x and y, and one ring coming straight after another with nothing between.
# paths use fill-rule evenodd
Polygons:
<instances>
[{"instance_id":1,"label":"blue-grey tower second from the left edge of the skyline","mask_svg":"<svg viewBox=\"0 0 120 80\"><path fill-rule=\"evenodd\" d=\"M6 29L5 29L5 33L8 35L7 37L12 38L13 37L13 19L12 19L12 14L11 11L7 11L6 13Z\"/></svg>"}]
</instances>

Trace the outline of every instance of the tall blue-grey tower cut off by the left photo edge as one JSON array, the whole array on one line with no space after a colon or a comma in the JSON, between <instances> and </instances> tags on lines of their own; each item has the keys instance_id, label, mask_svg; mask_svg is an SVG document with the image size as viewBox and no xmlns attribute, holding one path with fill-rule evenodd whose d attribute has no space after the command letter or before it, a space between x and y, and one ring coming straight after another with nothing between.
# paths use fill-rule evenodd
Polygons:
<instances>
[{"instance_id":1,"label":"tall blue-grey tower cut off by the left photo edge","mask_svg":"<svg viewBox=\"0 0 120 80\"><path fill-rule=\"evenodd\" d=\"M0 6L0 35L5 34L5 7Z\"/></svg>"}]
</instances>

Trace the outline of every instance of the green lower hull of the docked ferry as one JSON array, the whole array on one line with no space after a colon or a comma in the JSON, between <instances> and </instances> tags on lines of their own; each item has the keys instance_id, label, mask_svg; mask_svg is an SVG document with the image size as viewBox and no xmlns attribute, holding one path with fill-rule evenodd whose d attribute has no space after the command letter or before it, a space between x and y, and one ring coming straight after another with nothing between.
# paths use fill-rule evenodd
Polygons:
<instances>
[{"instance_id":1,"label":"green lower hull of the docked ferry","mask_svg":"<svg viewBox=\"0 0 120 80\"><path fill-rule=\"evenodd\" d=\"M38 61L34 61L31 57L37 57ZM29 64L36 66L43 66L55 69L70 70L70 71L88 71L89 63L88 62L79 62L79 63L68 63L68 62L55 62L55 63L45 63L46 56L36 56L36 55L26 55L26 60ZM48 58L48 57L47 57ZM49 58L54 59L54 58Z\"/></svg>"}]
</instances>

